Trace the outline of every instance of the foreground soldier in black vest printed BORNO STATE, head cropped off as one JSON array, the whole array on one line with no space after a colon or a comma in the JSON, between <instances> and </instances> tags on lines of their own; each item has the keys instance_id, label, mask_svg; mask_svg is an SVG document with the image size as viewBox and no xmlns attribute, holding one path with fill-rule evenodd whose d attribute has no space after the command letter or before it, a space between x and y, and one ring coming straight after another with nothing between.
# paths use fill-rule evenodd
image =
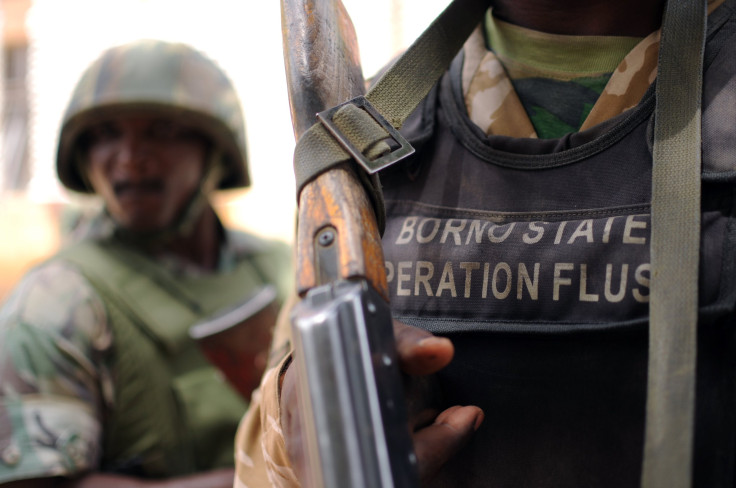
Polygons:
<instances>
[{"instance_id":1,"label":"foreground soldier in black vest printed BORNO STATE, head cropped off","mask_svg":"<svg viewBox=\"0 0 736 488\"><path fill-rule=\"evenodd\" d=\"M391 308L414 326L396 326L402 367L439 371L446 398L415 426L422 486L639 486L665 2L490 3L402 128L416 155L381 172ZM708 4L693 460L703 487L736 479L736 4ZM249 487L308 479L296 410L287 356L239 431Z\"/></svg>"}]
</instances>

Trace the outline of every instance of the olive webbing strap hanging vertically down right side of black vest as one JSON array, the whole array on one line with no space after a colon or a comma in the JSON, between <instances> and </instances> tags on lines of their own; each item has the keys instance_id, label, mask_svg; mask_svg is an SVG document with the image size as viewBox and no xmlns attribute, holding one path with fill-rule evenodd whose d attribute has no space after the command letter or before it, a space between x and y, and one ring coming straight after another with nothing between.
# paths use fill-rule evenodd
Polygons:
<instances>
[{"instance_id":1,"label":"olive webbing strap hanging vertically down right side of black vest","mask_svg":"<svg viewBox=\"0 0 736 488\"><path fill-rule=\"evenodd\" d=\"M656 81L643 488L692 483L705 25L705 0L667 2Z\"/></svg>"}]
</instances>

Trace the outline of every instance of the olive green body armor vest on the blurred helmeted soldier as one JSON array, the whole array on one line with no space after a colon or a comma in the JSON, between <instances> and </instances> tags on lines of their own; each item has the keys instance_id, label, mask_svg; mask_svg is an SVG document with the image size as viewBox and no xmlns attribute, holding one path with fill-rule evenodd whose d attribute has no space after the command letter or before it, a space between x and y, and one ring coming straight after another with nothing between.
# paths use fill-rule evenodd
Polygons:
<instances>
[{"instance_id":1,"label":"olive green body armor vest on the blurred helmeted soldier","mask_svg":"<svg viewBox=\"0 0 736 488\"><path fill-rule=\"evenodd\" d=\"M171 477L232 466L247 403L188 332L268 283L268 263L254 254L229 273L174 277L114 240L83 241L58 258L97 291L113 333L101 471Z\"/></svg>"}]
</instances>

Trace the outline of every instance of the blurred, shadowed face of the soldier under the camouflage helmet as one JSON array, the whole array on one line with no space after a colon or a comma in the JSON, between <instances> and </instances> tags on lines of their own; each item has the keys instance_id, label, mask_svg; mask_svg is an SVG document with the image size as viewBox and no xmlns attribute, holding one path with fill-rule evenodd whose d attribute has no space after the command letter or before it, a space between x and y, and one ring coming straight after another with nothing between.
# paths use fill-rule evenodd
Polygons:
<instances>
[{"instance_id":1,"label":"blurred, shadowed face of the soldier under the camouflage helmet","mask_svg":"<svg viewBox=\"0 0 736 488\"><path fill-rule=\"evenodd\" d=\"M172 224L204 174L208 145L167 118L120 116L87 132L87 177L122 227L138 232Z\"/></svg>"}]
</instances>

